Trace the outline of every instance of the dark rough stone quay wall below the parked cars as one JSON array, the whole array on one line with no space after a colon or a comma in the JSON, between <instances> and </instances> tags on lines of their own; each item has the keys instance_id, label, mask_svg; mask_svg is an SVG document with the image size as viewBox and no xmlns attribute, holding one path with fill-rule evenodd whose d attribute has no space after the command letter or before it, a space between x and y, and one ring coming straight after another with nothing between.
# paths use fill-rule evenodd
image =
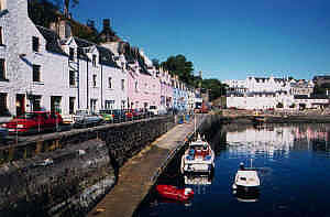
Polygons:
<instances>
[{"instance_id":1,"label":"dark rough stone quay wall below the parked cars","mask_svg":"<svg viewBox=\"0 0 330 217\"><path fill-rule=\"evenodd\" d=\"M0 216L84 216L118 169L175 126L157 117L37 137L0 148Z\"/></svg>"}]
</instances>

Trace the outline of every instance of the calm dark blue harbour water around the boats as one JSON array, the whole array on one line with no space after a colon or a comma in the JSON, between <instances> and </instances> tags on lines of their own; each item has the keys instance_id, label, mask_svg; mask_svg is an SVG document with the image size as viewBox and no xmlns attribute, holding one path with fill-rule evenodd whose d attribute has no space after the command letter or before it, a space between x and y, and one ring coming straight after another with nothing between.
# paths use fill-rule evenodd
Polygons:
<instances>
[{"instance_id":1,"label":"calm dark blue harbour water around the boats","mask_svg":"<svg viewBox=\"0 0 330 217\"><path fill-rule=\"evenodd\" d=\"M210 139L216 151L211 177L179 175L175 159L160 184L189 186L189 203L152 193L135 216L330 216L329 124L226 127ZM233 195L231 185L240 162L258 167L258 195Z\"/></svg>"}]
</instances>

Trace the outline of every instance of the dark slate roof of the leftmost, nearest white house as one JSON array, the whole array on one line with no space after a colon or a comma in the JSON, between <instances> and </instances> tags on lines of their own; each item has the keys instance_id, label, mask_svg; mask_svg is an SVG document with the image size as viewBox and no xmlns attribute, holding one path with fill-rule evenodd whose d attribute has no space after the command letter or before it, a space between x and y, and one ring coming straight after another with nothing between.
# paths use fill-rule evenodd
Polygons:
<instances>
[{"instance_id":1,"label":"dark slate roof of the leftmost, nearest white house","mask_svg":"<svg viewBox=\"0 0 330 217\"><path fill-rule=\"evenodd\" d=\"M61 47L59 37L56 32L40 25L36 25L36 28L46 40L46 51L67 56Z\"/></svg>"}]
</instances>

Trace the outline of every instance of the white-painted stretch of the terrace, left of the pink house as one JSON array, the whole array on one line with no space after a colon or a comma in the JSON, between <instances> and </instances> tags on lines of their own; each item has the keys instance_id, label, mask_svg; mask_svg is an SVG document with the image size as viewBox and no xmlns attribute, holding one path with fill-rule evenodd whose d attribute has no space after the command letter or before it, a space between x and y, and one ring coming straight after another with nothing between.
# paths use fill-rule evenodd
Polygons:
<instances>
[{"instance_id":1,"label":"white-painted stretch of the terrace, left of the pink house","mask_svg":"<svg viewBox=\"0 0 330 217\"><path fill-rule=\"evenodd\" d=\"M127 106L127 75L106 47L76 39L65 20L29 18L26 0L0 0L0 117Z\"/></svg>"}]
</instances>

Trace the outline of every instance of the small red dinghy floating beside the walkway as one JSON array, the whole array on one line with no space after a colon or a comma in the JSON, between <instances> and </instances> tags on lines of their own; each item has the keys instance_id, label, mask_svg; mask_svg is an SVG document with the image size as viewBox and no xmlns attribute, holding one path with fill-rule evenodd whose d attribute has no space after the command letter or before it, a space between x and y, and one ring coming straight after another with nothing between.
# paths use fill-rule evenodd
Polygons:
<instances>
[{"instance_id":1,"label":"small red dinghy floating beside the walkway","mask_svg":"<svg viewBox=\"0 0 330 217\"><path fill-rule=\"evenodd\" d=\"M162 197L182 202L188 200L194 196L194 191L189 187L179 189L173 185L157 185L156 191Z\"/></svg>"}]
</instances>

